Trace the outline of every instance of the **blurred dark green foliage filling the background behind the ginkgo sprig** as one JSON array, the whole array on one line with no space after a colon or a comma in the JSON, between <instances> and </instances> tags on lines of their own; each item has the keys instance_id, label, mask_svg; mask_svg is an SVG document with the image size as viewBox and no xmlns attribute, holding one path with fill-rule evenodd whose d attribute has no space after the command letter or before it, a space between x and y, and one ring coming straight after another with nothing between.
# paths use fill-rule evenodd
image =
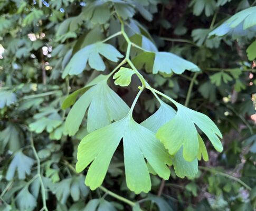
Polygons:
<instances>
[{"instance_id":1,"label":"blurred dark green foliage filling the background behind the ginkgo sprig","mask_svg":"<svg viewBox=\"0 0 256 211\"><path fill-rule=\"evenodd\" d=\"M255 2L247 0L0 1L0 210L255 209L253 5ZM251 16L247 11L236 17L244 18L242 23L249 24L249 29L242 24L231 27L229 22L221 25L249 7ZM99 71L94 69L106 69L103 74L113 70L127 45L123 37L113 37L107 43L121 54L108 48L108 56L98 47L98 52L88 55L87 66L80 64L84 56L73 62L73 75L67 68L71 57L83 47L118 33L117 16L128 23L126 32L139 47L148 51L157 47L200 67L197 73L151 74L152 57L147 55L148 63L143 66L141 58L134 59L140 49L132 47L130 52L148 83L205 113L223 135L221 154L205 139L209 161L199 162L195 178L181 179L171 168L166 182L151 175L148 194L136 195L127 188L121 146L103 186L89 190L84 185L86 171L78 174L74 169L78 144L88 133L87 121L81 119L77 133L69 130L72 136L64 129L69 113L63 110L64 99L96 78ZM103 56L96 61L98 53ZM129 81L119 78L115 84L127 85ZM125 88L115 84L109 81L111 89L130 106L139 79L133 75ZM143 92L134 119L140 123L158 107L153 95Z\"/></svg>"}]
</instances>

